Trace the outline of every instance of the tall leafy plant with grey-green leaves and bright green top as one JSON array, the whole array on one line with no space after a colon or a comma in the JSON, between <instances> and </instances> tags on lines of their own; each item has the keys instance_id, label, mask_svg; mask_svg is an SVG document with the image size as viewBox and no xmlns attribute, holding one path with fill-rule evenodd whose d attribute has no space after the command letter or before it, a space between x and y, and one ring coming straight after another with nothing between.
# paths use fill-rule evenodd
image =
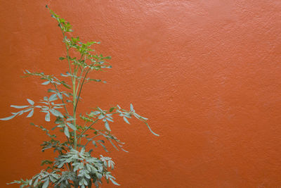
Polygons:
<instances>
[{"instance_id":1,"label":"tall leafy plant with grey-green leaves and bright green top","mask_svg":"<svg viewBox=\"0 0 281 188\"><path fill-rule=\"evenodd\" d=\"M48 6L46 6L48 8ZM109 110L103 110L99 107L94 111L86 113L85 115L79 114L77 111L77 105L81 100L81 91L86 82L100 82L101 80L91 79L88 77L89 73L94 70L104 70L111 68L107 63L109 56L103 56L94 54L94 50L91 48L93 44L98 42L86 42L82 43L79 37L69 37L69 32L72 32L72 26L59 15L55 14L48 8L51 15L58 21L58 26L63 33L63 42L66 47L66 54L60 57L60 61L67 61L69 66L69 72L61 74L68 80L71 80L71 84L67 84L67 81L59 80L53 75L45 75L44 73L31 73L25 70L25 75L34 75L44 80L44 85L51 85L53 89L48 89L50 96L44 96L38 104L35 104L31 99L27 99L28 105L26 106L14 106L13 108L19 108L20 111L12 113L8 118L1 118L0 120L11 120L16 116L28 113L27 118L32 117L34 110L46 113L46 122L51 121L51 115L55 117L55 126L52 130L58 129L63 132L65 141L62 142L58 139L57 135L51 134L49 130L41 125L34 125L41 128L48 135L48 141L41 144L42 151L46 149L53 149L58 153L58 157L54 161L42 161L41 165L47 165L46 169L41 170L40 173L34 175L30 180L19 180L11 183L21 184L20 187L92 187L95 185L99 187L104 177L107 183L111 181L113 184L119 185L115 182L115 177L110 173L110 169L113 169L115 163L110 157L93 157L92 155L97 153L93 152L93 149L87 150L89 143L94 146L103 146L103 149L107 151L104 145L104 140L107 140L115 147L115 149L122 149L121 142L115 137L110 130L109 123L113 122L113 115L119 115L129 124L129 118L133 116L138 120L141 120L150 129L147 118L138 115L133 109L131 104L130 110L124 110L120 106L114 106ZM78 56L71 56L76 51ZM78 52L78 53L77 53ZM66 89L63 91L62 89ZM60 102L58 102L60 101ZM70 108L72 108L70 110ZM102 123L98 128L98 123ZM91 132L91 133L89 133ZM155 134L154 132L152 132ZM158 136L158 134L155 134ZM99 139L102 137L103 139ZM124 149L122 149L124 150Z\"/></svg>"}]
</instances>

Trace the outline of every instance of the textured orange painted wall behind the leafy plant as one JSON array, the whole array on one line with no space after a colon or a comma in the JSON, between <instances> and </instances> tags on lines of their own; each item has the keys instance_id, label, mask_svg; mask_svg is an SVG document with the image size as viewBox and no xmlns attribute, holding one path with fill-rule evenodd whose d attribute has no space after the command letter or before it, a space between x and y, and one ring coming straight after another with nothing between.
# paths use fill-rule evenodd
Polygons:
<instances>
[{"instance_id":1,"label":"textured orange painted wall behind the leafy plant","mask_svg":"<svg viewBox=\"0 0 281 188\"><path fill-rule=\"evenodd\" d=\"M112 56L112 70L92 74L107 84L86 85L79 110L131 102L161 135L112 125L129 150L108 153L122 187L281 187L281 1L1 0L1 118L46 95L23 70L66 71L46 4ZM29 125L51 127L43 117L0 122L0 187L53 157Z\"/></svg>"}]
</instances>

